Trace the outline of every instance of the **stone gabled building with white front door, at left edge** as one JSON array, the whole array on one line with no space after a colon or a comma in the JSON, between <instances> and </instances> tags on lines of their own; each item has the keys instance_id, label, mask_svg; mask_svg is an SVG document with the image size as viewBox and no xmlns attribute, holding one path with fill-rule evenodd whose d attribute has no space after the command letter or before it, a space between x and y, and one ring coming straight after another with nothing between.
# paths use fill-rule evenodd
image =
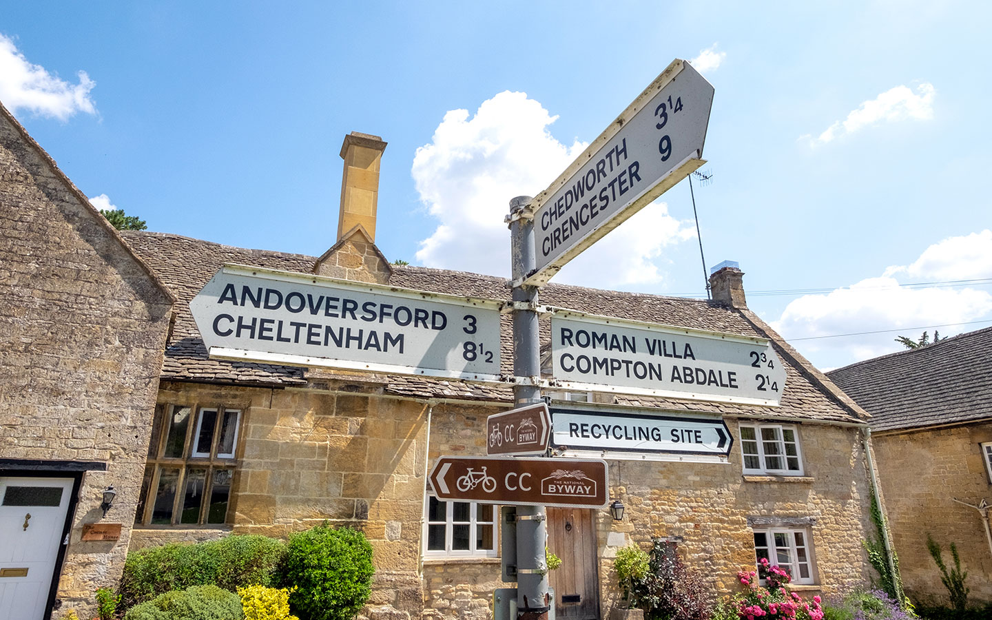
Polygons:
<instances>
[{"instance_id":1,"label":"stone gabled building with white front door, at left edge","mask_svg":"<svg viewBox=\"0 0 992 620\"><path fill-rule=\"evenodd\" d=\"M173 302L0 105L0 618L119 578Z\"/></svg>"}]
</instances>

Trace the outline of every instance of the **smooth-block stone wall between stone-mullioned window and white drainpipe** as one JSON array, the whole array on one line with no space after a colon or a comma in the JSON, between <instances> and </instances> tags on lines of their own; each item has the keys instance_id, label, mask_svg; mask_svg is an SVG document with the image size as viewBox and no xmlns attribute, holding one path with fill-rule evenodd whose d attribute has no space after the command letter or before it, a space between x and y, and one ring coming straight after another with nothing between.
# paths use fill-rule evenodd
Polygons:
<instances>
[{"instance_id":1,"label":"smooth-block stone wall between stone-mullioned window and white drainpipe","mask_svg":"<svg viewBox=\"0 0 992 620\"><path fill-rule=\"evenodd\" d=\"M419 618L428 406L383 398L374 385L346 387L368 393L164 382L159 402L244 412L233 532L285 538L324 521L358 528L376 566L367 617ZM143 540L158 532L139 531Z\"/></svg>"}]
</instances>

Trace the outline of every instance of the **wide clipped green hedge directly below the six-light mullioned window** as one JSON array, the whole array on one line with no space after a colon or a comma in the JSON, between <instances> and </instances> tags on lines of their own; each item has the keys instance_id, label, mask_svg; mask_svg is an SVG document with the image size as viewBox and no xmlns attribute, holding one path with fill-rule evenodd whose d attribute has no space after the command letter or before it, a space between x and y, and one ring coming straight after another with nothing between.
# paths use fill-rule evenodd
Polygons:
<instances>
[{"instance_id":1,"label":"wide clipped green hedge directly below the six-light mullioned window","mask_svg":"<svg viewBox=\"0 0 992 620\"><path fill-rule=\"evenodd\" d=\"M244 585L275 585L286 544L264 536L228 536L192 545L171 544L128 554L121 606L132 607L171 590L212 584L233 592Z\"/></svg>"}]
</instances>

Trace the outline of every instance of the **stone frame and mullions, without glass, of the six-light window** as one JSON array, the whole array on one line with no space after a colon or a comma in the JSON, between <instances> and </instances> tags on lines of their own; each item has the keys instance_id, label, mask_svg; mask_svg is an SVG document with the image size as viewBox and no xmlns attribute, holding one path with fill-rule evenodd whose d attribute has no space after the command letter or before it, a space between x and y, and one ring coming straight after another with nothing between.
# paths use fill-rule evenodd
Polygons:
<instances>
[{"instance_id":1,"label":"stone frame and mullions, without glass, of the six-light window","mask_svg":"<svg viewBox=\"0 0 992 620\"><path fill-rule=\"evenodd\" d=\"M145 466L145 478L142 482L141 501L139 502L139 510L135 514L135 528L229 529L229 521L231 518L230 506L232 505L232 498L234 494L234 470L236 468L236 458L241 454L242 444L244 443L244 413L247 407L224 407L223 405L218 404L205 404L194 401L185 402L186 399L183 399L183 401L184 402L159 403L156 407L152 436L149 442L149 455ZM191 416L189 423L186 424L186 439L183 447L183 456L169 457L165 455L166 444L169 440L170 431L167 424L167 419L172 415L176 408L188 408L193 415ZM212 440L213 446L211 449L211 455L206 457L194 455L194 447L192 445L192 443L196 440L197 434L199 433L202 422L202 413L204 411L212 411L216 413L215 424L217 425L215 427ZM219 427L221 421L223 420L224 414L229 412L237 412L233 448L234 451L230 456L224 454L223 457L221 457L215 453L219 441ZM173 503L173 523L153 524L152 513L155 510L156 494L159 488L161 472L164 468L179 469L180 472L179 478L176 482L176 496ZM231 480L229 482L227 495L228 513L225 516L224 523L206 523L209 512L208 502L204 502L206 507L201 504L200 515L197 519L197 523L179 523L183 512L182 505L185 496L186 470L188 468L200 468L206 470L205 484L204 489L202 490L204 499L210 496L213 483L213 472L217 469L227 469L231 471Z\"/></svg>"}]
</instances>

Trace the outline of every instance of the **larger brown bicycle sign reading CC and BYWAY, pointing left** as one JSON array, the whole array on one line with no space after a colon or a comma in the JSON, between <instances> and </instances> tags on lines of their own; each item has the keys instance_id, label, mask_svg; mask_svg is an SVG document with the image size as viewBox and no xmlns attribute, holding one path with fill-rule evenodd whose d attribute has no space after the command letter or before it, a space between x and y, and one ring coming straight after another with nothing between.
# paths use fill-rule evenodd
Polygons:
<instances>
[{"instance_id":1,"label":"larger brown bicycle sign reading CC and BYWAY, pointing left","mask_svg":"<svg viewBox=\"0 0 992 620\"><path fill-rule=\"evenodd\" d=\"M603 508L606 461L503 456L441 456L431 470L437 499L517 506Z\"/></svg>"}]
</instances>

